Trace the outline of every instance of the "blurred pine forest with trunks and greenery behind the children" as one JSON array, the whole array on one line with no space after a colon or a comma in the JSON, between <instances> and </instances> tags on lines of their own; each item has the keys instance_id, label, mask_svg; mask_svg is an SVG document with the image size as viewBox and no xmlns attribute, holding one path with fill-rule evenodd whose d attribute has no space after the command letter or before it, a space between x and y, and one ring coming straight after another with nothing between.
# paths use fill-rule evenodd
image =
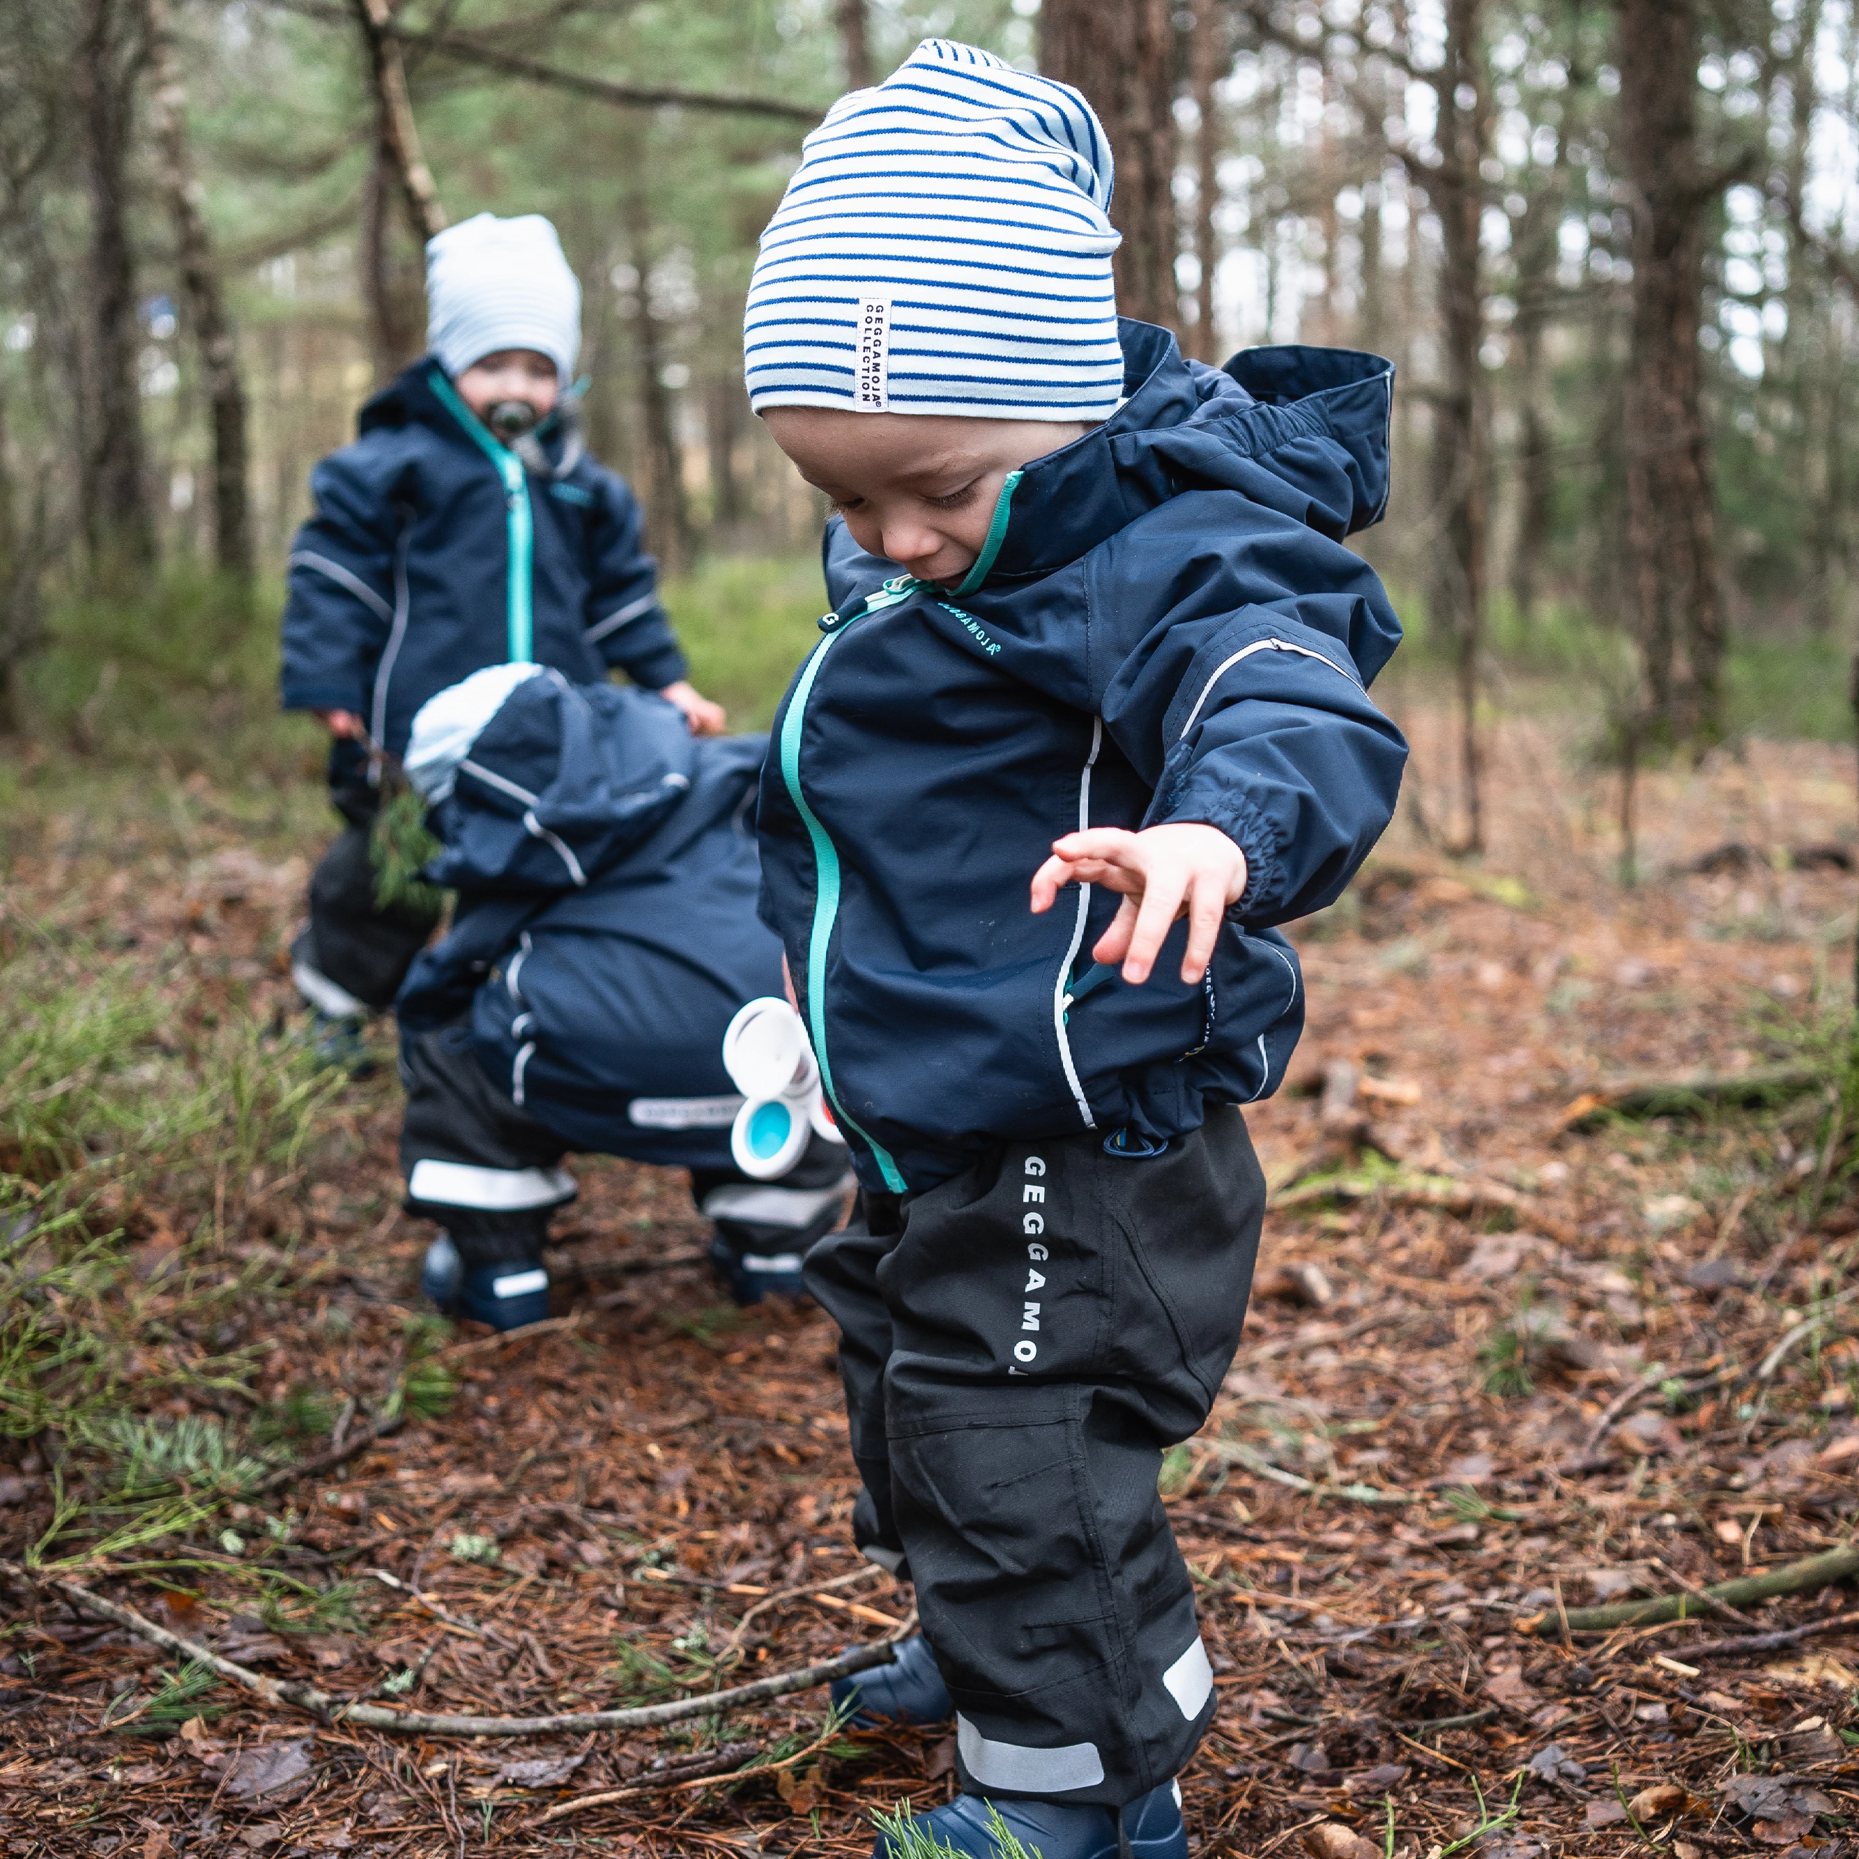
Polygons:
<instances>
[{"instance_id":1,"label":"blurred pine forest with trunks and greenery behind the children","mask_svg":"<svg viewBox=\"0 0 1859 1859\"><path fill-rule=\"evenodd\" d=\"M422 346L424 234L483 208L560 225L589 439L699 673L766 718L820 513L740 385L755 238L824 106L944 33L1097 104L1125 310L1214 363L1396 361L1366 548L1456 692L1446 844L1482 840L1519 679L1627 784L1842 736L1855 30L1844 0L0 0L0 727L28 764L305 751L262 699L307 474Z\"/></svg>"}]
</instances>

